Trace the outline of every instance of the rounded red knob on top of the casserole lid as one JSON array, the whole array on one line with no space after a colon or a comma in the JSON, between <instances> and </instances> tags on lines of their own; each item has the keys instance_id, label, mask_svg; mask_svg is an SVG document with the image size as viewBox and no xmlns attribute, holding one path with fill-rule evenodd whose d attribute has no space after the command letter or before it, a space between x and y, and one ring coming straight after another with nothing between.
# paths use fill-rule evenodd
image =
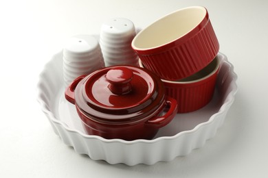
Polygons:
<instances>
[{"instance_id":1,"label":"rounded red knob on top of the casserole lid","mask_svg":"<svg viewBox=\"0 0 268 178\"><path fill-rule=\"evenodd\" d=\"M133 78L133 72L131 69L118 66L112 68L107 72L107 80L109 81L108 88L113 94L127 94L131 92L131 79Z\"/></svg>"}]
</instances>

